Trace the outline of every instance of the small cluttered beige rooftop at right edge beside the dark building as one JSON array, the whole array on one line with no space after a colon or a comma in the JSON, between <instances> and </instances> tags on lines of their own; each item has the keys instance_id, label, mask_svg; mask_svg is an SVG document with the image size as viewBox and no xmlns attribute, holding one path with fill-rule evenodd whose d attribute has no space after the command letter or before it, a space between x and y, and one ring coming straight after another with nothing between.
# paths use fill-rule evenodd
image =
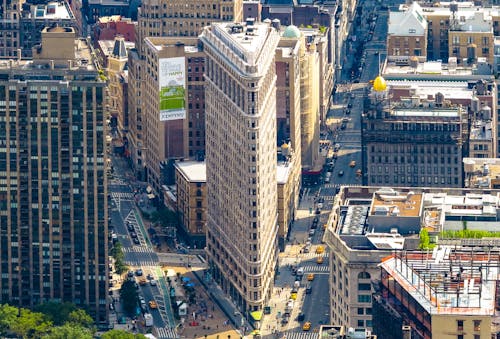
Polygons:
<instances>
[{"instance_id":1,"label":"small cluttered beige rooftop at right edge beside the dark building","mask_svg":"<svg viewBox=\"0 0 500 339\"><path fill-rule=\"evenodd\" d=\"M464 158L465 187L500 188L500 159Z\"/></svg>"}]
</instances>

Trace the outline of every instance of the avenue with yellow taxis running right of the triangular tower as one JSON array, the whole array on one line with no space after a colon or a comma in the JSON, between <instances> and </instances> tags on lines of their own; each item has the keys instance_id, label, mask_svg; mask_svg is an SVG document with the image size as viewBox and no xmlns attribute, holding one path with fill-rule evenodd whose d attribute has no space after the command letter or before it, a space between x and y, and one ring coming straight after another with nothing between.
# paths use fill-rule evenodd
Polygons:
<instances>
[{"instance_id":1,"label":"avenue with yellow taxis running right of the triangular tower","mask_svg":"<svg viewBox=\"0 0 500 339\"><path fill-rule=\"evenodd\" d=\"M362 5L362 4L360 4ZM343 66L341 85L337 86L334 100L327 116L326 128L322 135L329 140L330 147L336 151L336 159L327 158L326 171L321 185L305 188L296 220L293 224L290 243L285 251L280 254L279 275L276 277L275 289L270 302L271 314L264 318L262 323L262 334L272 337L287 339L308 339L317 336L315 331L322 324L330 323L330 301L328 282L328 258L329 253L317 254L316 249L321 244L323 237L323 224L328 218L333 199L337 190L342 185L361 185L361 114L363 112L363 100L366 96L369 81L380 74L380 65L385 60L385 37L387 33L387 10L376 10L372 5L363 7L361 26L356 27L355 35L358 39L351 44L356 48L363 41L362 49L358 50L361 55L359 74L357 78L351 78L352 60ZM365 41L366 39L366 41ZM328 163L331 163L329 165ZM327 172L330 172L327 179ZM322 205L318 205L320 201ZM321 213L313 214L318 207ZM317 216L319 221L314 235L309 231L313 220ZM311 242L308 253L304 253L305 247ZM332 254L330 254L332 255ZM318 257L323 261L318 264ZM293 267L302 268L304 275L297 289L296 300L290 317L283 321L287 312L287 305L292 297L292 290L296 281L293 275ZM308 281L308 275L314 274L312 281ZM306 287L310 287L306 293ZM300 317L299 317L300 315ZM299 320L300 318L300 320ZM304 324L310 322L310 329Z\"/></svg>"}]
</instances>

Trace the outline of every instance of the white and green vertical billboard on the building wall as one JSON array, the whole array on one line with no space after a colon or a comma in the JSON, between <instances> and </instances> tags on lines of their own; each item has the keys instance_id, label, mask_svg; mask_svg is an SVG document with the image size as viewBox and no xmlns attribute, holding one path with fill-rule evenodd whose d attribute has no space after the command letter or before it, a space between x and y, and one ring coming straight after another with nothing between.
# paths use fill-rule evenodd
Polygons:
<instances>
[{"instance_id":1,"label":"white and green vertical billboard on the building wall","mask_svg":"<svg viewBox=\"0 0 500 339\"><path fill-rule=\"evenodd\" d=\"M186 66L183 57L158 60L160 121L186 118Z\"/></svg>"}]
</instances>

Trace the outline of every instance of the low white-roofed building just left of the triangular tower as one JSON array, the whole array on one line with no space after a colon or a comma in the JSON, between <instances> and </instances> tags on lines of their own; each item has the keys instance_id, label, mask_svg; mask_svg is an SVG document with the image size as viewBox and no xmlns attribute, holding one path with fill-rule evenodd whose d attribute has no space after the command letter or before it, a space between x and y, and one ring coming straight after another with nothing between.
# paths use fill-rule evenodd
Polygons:
<instances>
[{"instance_id":1,"label":"low white-roofed building just left of the triangular tower","mask_svg":"<svg viewBox=\"0 0 500 339\"><path fill-rule=\"evenodd\" d=\"M207 173L204 162L175 163L177 212L184 232L196 248L205 247L207 223Z\"/></svg>"}]
</instances>

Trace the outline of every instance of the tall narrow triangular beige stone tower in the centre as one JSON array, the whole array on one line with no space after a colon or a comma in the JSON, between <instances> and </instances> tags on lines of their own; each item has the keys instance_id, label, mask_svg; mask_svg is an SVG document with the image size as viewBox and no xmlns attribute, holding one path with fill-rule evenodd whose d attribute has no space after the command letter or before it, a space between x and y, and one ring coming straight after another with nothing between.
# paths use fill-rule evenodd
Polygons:
<instances>
[{"instance_id":1,"label":"tall narrow triangular beige stone tower in the centre","mask_svg":"<svg viewBox=\"0 0 500 339\"><path fill-rule=\"evenodd\" d=\"M269 299L278 259L276 64L266 23L213 23L205 65L207 252L244 312Z\"/></svg>"}]
</instances>

